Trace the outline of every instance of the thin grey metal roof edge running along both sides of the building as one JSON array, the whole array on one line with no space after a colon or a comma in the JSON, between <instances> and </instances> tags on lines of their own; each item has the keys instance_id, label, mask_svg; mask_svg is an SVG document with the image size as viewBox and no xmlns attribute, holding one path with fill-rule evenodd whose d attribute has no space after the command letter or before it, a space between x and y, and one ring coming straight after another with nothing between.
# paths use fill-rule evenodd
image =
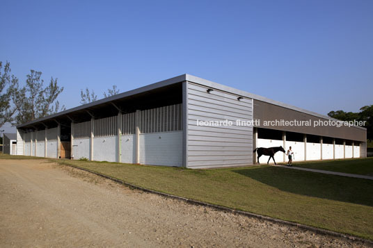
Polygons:
<instances>
[{"instance_id":1,"label":"thin grey metal roof edge running along both sides of the building","mask_svg":"<svg viewBox=\"0 0 373 248\"><path fill-rule=\"evenodd\" d=\"M70 108L68 110L64 110L64 111L56 113L54 115L49 115L47 117L42 117L42 118L39 118L39 119L35 119L31 122L26 122L24 124L20 124L20 125L17 126L17 128L22 128L23 126L27 126L27 125L30 125L30 124L36 124L38 122L42 122L42 121L45 121L45 120L48 120L48 119L54 119L56 117L67 115L67 114L72 113L72 112L77 111L77 110L84 110L84 109L91 108L93 106L99 106L100 104L107 104L107 103L110 103L111 101L115 101L115 100L118 100L118 99L123 99L125 97L130 97L134 94L147 92L149 90L154 90L154 89L157 89L157 88L161 88L161 87L164 87L164 86L167 86L167 85L172 85L172 84L175 84L175 83L181 83L181 82L184 82L184 81L189 81L191 83L198 83L200 85L205 85L206 87L209 87L209 88L214 88L216 90L222 90L224 92L230 92L232 94L237 94L237 95L242 96L242 97L248 97L248 98L251 98L251 99L256 99L258 101L265 101L269 104L274 104L274 105L281 106L281 107L284 107L284 108L289 108L289 109L292 109L292 110L299 111L301 113L305 113L305 114L308 114L308 115L313 115L315 117L320 117L320 118L323 118L323 119L338 120L338 119L328 117L326 115L321 115L319 113L315 113L315 112L312 112L312 111L309 111L309 110L305 110L303 108L298 108L296 106L292 106L292 105L289 105L289 104L284 104L280 101L275 101L275 100L269 99L267 97L262 97L262 96L259 96L257 94L252 94L252 93L246 92L244 90L237 90L237 89L229 87L227 85L214 83L212 81L208 81L206 79L199 78L198 76L193 76L193 75L189 75L189 74L182 74L180 76L175 76L173 78L168 78L164 81L159 81L157 83L152 83L150 85L146 85L146 86L143 86L141 88L137 88L135 90L129 90L127 92L116 94L112 97L106 97L106 98L100 99L98 101L93 101L89 104L84 104L84 105L81 105L81 106L77 106L75 108ZM360 126L353 126L353 127L365 130L365 128L360 127Z\"/></svg>"}]
</instances>

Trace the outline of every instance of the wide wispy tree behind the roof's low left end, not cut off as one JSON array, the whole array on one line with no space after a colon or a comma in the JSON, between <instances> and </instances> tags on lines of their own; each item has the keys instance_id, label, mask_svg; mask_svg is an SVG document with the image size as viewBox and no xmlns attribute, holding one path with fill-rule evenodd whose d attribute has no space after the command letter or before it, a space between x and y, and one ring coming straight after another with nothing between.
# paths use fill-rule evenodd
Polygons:
<instances>
[{"instance_id":1,"label":"wide wispy tree behind the roof's low left end, not cut off","mask_svg":"<svg viewBox=\"0 0 373 248\"><path fill-rule=\"evenodd\" d=\"M26 76L24 87L20 87L18 82L13 85L10 95L17 110L13 124L31 122L34 119L65 110L65 106L60 108L57 101L58 95L63 92L63 87L57 84L57 78L52 77L47 87L44 88L44 80L41 76L42 72L31 69L31 73Z\"/></svg>"}]
</instances>

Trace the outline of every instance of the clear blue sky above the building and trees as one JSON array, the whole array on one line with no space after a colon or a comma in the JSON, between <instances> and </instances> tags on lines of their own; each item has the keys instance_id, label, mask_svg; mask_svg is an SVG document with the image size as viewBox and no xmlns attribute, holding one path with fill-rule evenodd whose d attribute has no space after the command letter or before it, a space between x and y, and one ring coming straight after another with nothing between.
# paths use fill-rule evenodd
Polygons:
<instances>
[{"instance_id":1,"label":"clear blue sky above the building and trees","mask_svg":"<svg viewBox=\"0 0 373 248\"><path fill-rule=\"evenodd\" d=\"M0 1L0 60L65 88L193 74L317 113L373 104L373 1Z\"/></svg>"}]
</instances>

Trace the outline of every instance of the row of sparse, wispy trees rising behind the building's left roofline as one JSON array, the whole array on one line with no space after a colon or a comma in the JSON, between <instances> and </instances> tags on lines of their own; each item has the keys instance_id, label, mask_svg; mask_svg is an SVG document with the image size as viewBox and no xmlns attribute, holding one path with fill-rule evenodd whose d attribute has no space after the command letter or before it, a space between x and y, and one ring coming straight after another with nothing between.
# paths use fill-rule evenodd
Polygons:
<instances>
[{"instance_id":1,"label":"row of sparse, wispy trees rising behind the building's left roofline","mask_svg":"<svg viewBox=\"0 0 373 248\"><path fill-rule=\"evenodd\" d=\"M26 75L26 82L19 83L17 76L11 73L10 63L0 61L0 128L6 123L22 124L65 110L57 99L61 92L63 87L58 85L57 78L51 77L45 85L42 72L33 69ZM104 97L118 92L117 86L113 85L104 92ZM81 90L81 104L96 100L93 90Z\"/></svg>"}]
</instances>

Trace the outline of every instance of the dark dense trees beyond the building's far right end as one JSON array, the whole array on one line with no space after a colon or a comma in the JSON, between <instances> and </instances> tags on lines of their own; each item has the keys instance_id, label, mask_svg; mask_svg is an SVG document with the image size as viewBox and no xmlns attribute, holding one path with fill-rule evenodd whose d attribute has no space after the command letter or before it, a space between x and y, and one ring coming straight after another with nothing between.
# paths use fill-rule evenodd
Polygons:
<instances>
[{"instance_id":1,"label":"dark dense trees beyond the building's far right end","mask_svg":"<svg viewBox=\"0 0 373 248\"><path fill-rule=\"evenodd\" d=\"M367 129L367 139L373 140L373 105L363 106L357 113L344 112L343 110L331 111L328 116L342 121L366 121L365 128Z\"/></svg>"}]
</instances>

